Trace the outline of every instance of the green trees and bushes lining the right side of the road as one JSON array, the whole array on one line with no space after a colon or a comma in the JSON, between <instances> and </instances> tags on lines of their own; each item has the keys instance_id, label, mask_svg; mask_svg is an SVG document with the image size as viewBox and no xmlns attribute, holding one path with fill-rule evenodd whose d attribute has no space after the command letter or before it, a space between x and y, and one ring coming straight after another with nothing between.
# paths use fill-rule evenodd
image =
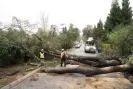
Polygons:
<instances>
[{"instance_id":1,"label":"green trees and bushes lining the right side of the road","mask_svg":"<svg viewBox=\"0 0 133 89\"><path fill-rule=\"evenodd\" d=\"M97 26L88 25L83 29L83 38L93 36L97 47L102 47L102 56L129 57L133 53L132 15L129 0L113 0L106 22L99 20Z\"/></svg>"}]
</instances>

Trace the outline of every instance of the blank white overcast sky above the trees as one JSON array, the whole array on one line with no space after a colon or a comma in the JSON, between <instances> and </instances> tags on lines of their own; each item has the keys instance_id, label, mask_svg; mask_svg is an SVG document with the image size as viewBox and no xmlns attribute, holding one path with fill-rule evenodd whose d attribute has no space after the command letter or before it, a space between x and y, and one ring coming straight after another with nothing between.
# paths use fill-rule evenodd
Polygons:
<instances>
[{"instance_id":1,"label":"blank white overcast sky above the trees","mask_svg":"<svg viewBox=\"0 0 133 89\"><path fill-rule=\"evenodd\" d=\"M38 23L40 15L48 15L49 25L73 23L80 29L87 24L103 22L112 0L1 0L0 21L11 22L12 16ZM130 0L133 7L133 0Z\"/></svg>"}]
</instances>

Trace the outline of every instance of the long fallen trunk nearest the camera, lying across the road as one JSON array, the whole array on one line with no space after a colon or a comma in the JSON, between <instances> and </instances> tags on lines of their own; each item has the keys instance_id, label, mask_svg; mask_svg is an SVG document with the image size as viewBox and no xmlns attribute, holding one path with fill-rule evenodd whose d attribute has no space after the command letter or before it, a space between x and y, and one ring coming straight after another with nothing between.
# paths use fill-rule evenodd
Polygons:
<instances>
[{"instance_id":1,"label":"long fallen trunk nearest the camera, lying across the road","mask_svg":"<svg viewBox=\"0 0 133 89\"><path fill-rule=\"evenodd\" d=\"M86 69L86 68L49 68L49 69L41 69L42 72L46 73L80 73L85 74L86 76L93 76L97 74L106 74L112 72L126 72L133 70L132 65L119 65L112 67L104 67L104 68L95 68L95 69Z\"/></svg>"}]
</instances>

